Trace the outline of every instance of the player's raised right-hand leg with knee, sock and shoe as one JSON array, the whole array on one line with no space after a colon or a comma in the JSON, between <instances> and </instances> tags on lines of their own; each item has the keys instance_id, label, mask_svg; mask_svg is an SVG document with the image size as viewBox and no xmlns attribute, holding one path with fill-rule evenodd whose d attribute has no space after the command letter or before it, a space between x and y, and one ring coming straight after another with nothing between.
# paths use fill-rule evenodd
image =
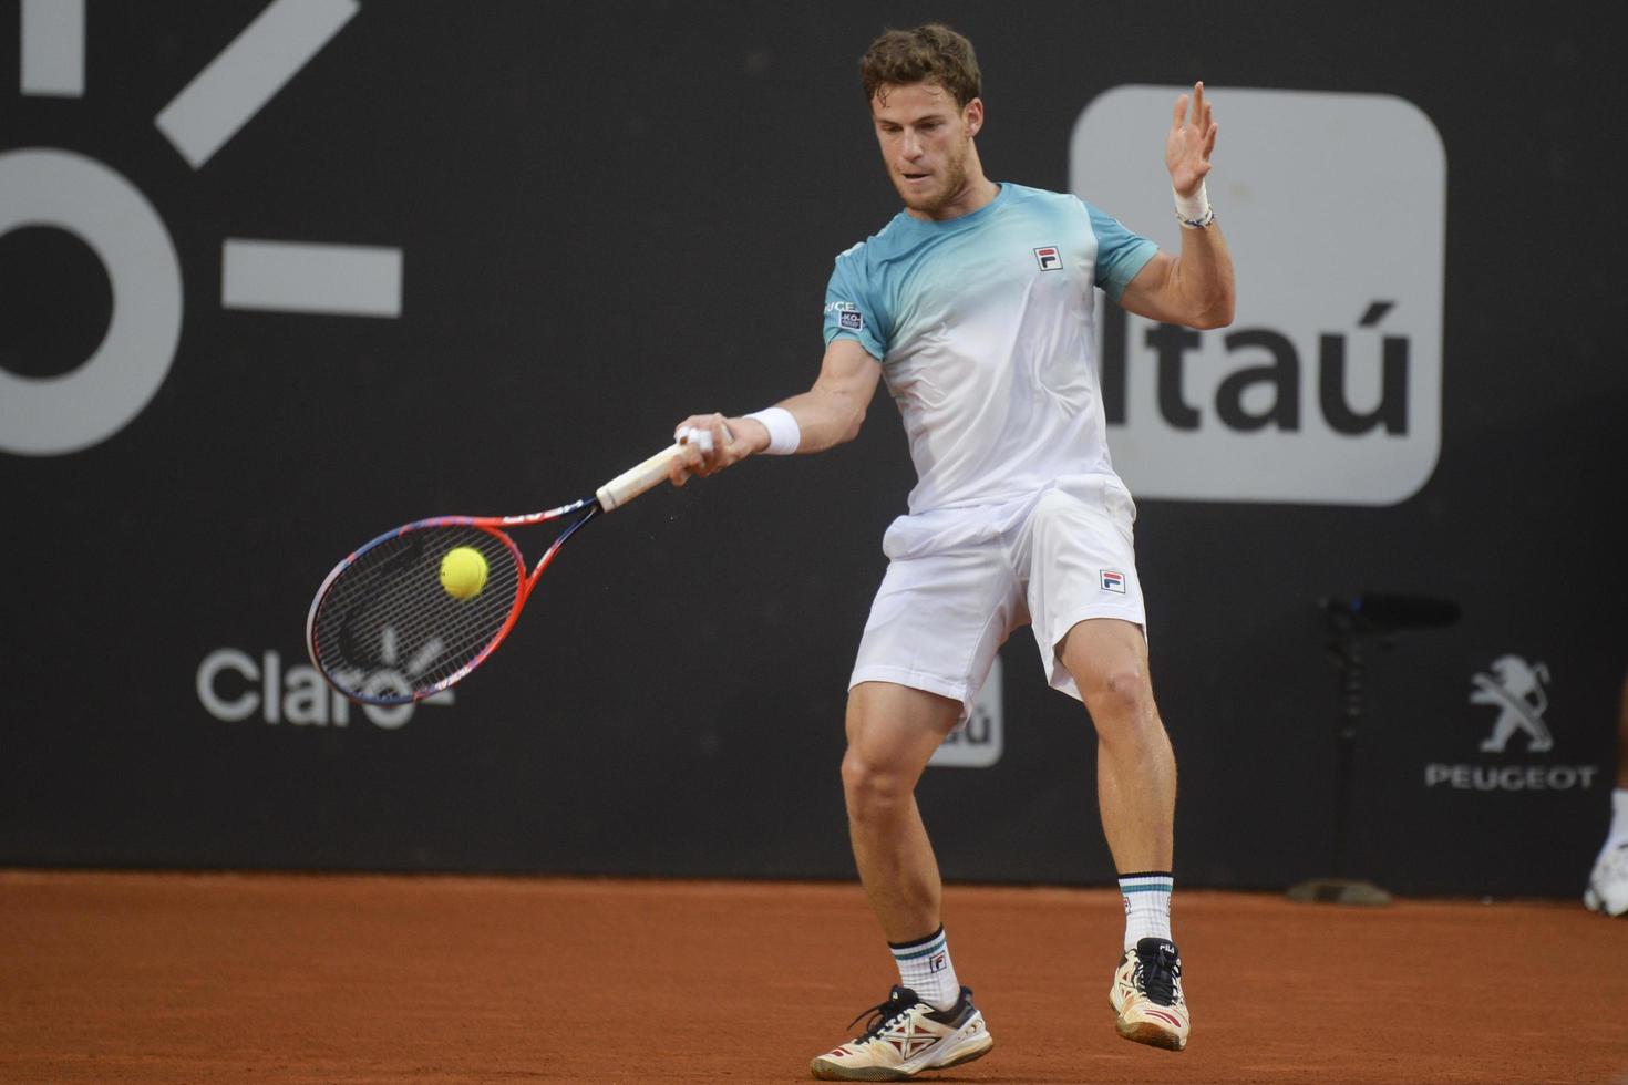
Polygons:
<instances>
[{"instance_id":1,"label":"player's raised right-hand leg with knee, sock and shoe","mask_svg":"<svg viewBox=\"0 0 1628 1085\"><path fill-rule=\"evenodd\" d=\"M1180 1051L1190 1017L1171 940L1175 753L1148 677L1148 641L1120 618L1088 618L1058 644L1097 729L1097 805L1125 895L1125 956L1109 1000L1127 1039Z\"/></svg>"}]
</instances>

